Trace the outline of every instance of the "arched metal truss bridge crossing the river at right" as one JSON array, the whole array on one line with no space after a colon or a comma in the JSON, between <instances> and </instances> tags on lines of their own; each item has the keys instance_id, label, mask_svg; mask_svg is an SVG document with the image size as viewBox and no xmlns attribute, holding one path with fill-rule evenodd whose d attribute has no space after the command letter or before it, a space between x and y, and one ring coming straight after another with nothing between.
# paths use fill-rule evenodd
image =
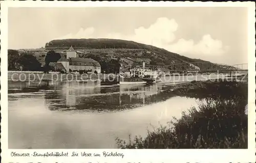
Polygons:
<instances>
[{"instance_id":1,"label":"arched metal truss bridge crossing the river at right","mask_svg":"<svg viewBox=\"0 0 256 163\"><path fill-rule=\"evenodd\" d=\"M243 73L248 72L248 64L236 64L236 65L226 65L220 63L210 63L210 62L183 62L178 64L170 64L166 66L158 66L158 65L146 65L146 67L151 68L153 70L160 69L162 71L168 72L232 72L232 71L241 71Z\"/></svg>"}]
</instances>

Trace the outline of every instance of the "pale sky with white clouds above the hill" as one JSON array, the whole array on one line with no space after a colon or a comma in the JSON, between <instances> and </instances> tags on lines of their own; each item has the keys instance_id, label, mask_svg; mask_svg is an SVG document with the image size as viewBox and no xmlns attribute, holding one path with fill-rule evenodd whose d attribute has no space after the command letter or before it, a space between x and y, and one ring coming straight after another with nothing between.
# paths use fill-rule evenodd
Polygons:
<instances>
[{"instance_id":1,"label":"pale sky with white clouds above the hill","mask_svg":"<svg viewBox=\"0 0 256 163\"><path fill-rule=\"evenodd\" d=\"M214 63L247 63L247 8L9 8L8 48L54 39L110 38Z\"/></svg>"}]
</instances>

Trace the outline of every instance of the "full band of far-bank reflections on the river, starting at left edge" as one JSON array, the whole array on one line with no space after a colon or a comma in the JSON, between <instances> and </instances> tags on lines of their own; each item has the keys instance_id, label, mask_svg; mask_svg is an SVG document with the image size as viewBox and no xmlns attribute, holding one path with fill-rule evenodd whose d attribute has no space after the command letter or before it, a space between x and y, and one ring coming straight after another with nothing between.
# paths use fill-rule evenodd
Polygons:
<instances>
[{"instance_id":1,"label":"full band of far-bank reflections on the river, starting at left edge","mask_svg":"<svg viewBox=\"0 0 256 163\"><path fill-rule=\"evenodd\" d=\"M49 110L83 112L119 111L158 102L161 98L156 95L165 88L161 84L102 86L90 81L8 85L9 100L17 100L18 94L19 98L43 96Z\"/></svg>"}]
</instances>

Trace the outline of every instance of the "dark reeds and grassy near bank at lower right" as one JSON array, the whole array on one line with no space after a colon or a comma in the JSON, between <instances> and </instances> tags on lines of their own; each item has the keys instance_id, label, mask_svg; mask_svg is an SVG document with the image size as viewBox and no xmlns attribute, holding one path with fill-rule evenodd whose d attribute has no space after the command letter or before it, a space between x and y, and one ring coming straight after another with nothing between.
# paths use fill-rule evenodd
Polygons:
<instances>
[{"instance_id":1,"label":"dark reeds and grassy near bank at lower right","mask_svg":"<svg viewBox=\"0 0 256 163\"><path fill-rule=\"evenodd\" d=\"M223 80L190 82L167 90L177 96L200 99L199 106L182 112L166 126L129 141L116 139L121 149L246 149L248 84ZM172 117L170 117L171 119Z\"/></svg>"}]
</instances>

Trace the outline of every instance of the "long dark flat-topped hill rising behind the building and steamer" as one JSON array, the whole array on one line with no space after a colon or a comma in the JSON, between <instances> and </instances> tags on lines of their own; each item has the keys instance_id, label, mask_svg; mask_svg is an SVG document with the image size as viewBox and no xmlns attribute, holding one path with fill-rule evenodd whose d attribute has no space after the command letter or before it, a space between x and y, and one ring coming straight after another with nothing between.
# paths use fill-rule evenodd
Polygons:
<instances>
[{"instance_id":1,"label":"long dark flat-topped hill rising behind the building and steamer","mask_svg":"<svg viewBox=\"0 0 256 163\"><path fill-rule=\"evenodd\" d=\"M117 40L117 39L64 39L52 40L46 43L47 50L67 50L70 46L80 50L79 57L93 58L101 63L102 61L110 61L118 59L124 66L141 65L146 60L150 65L170 65L179 63L190 63L186 68L207 69L212 66L208 61L200 59L191 59L181 56L177 53L167 51L152 45L145 45L134 41ZM198 62L201 62L200 64ZM202 64L203 63L203 64ZM186 66L187 66L186 65Z\"/></svg>"}]
</instances>

